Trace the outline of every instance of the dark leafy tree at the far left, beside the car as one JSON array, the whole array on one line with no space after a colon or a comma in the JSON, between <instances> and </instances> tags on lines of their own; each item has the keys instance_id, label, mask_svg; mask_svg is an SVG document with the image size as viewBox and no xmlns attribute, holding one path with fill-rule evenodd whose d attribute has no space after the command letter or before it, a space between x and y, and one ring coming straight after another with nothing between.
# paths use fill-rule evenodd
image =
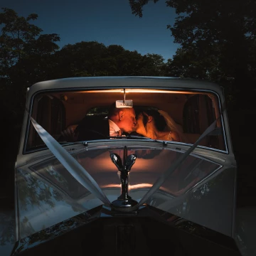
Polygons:
<instances>
[{"instance_id":1,"label":"dark leafy tree at the far left, beside the car","mask_svg":"<svg viewBox=\"0 0 256 256\"><path fill-rule=\"evenodd\" d=\"M60 38L55 33L42 34L43 30L31 23L37 14L25 18L12 9L1 10L1 102L9 111L23 112L26 88L48 78L49 60L58 50L55 42Z\"/></svg>"}]
</instances>

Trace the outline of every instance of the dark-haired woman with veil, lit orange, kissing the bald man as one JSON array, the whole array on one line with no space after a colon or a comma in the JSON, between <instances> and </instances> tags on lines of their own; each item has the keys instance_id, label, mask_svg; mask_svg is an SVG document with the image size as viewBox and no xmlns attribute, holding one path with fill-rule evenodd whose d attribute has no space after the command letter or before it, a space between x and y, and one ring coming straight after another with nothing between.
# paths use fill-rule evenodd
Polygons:
<instances>
[{"instance_id":1,"label":"dark-haired woman with veil, lit orange, kissing the bald man","mask_svg":"<svg viewBox=\"0 0 256 256\"><path fill-rule=\"evenodd\" d=\"M168 131L166 131L166 126ZM143 109L137 114L136 132L144 137L182 142L183 130L163 110Z\"/></svg>"}]
</instances>

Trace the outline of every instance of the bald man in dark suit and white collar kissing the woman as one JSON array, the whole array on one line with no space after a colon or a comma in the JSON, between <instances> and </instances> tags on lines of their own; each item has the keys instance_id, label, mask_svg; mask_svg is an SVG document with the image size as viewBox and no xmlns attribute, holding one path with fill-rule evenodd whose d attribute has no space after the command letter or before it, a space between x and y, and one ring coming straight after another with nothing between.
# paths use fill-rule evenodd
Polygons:
<instances>
[{"instance_id":1,"label":"bald man in dark suit and white collar kissing the woman","mask_svg":"<svg viewBox=\"0 0 256 256\"><path fill-rule=\"evenodd\" d=\"M107 118L92 120L86 116L80 124L68 127L61 134L68 142L107 139L121 136L123 132L134 132L137 126L133 107L117 108L110 105Z\"/></svg>"}]
</instances>

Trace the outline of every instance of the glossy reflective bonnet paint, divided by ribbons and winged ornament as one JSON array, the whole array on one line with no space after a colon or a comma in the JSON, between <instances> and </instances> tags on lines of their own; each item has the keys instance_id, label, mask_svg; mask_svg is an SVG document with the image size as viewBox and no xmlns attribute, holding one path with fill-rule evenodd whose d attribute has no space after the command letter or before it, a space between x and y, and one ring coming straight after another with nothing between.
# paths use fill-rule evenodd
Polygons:
<instances>
[{"instance_id":1,"label":"glossy reflective bonnet paint, divided by ribbons and winged ornament","mask_svg":"<svg viewBox=\"0 0 256 256\"><path fill-rule=\"evenodd\" d=\"M122 158L122 147L73 154L111 202L120 195L112 152ZM128 154L138 156L129 172L129 195L139 201L182 153L130 146ZM231 236L234 176L234 169L225 169L216 161L188 156L146 203ZM17 181L20 238L102 204L53 157L18 168Z\"/></svg>"}]
</instances>

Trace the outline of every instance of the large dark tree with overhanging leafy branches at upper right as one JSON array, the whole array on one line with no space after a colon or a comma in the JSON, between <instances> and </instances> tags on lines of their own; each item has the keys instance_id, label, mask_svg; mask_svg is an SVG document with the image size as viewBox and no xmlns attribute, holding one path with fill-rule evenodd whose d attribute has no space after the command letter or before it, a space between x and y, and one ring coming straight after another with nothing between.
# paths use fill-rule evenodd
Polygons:
<instances>
[{"instance_id":1,"label":"large dark tree with overhanging leafy branches at upper right","mask_svg":"<svg viewBox=\"0 0 256 256\"><path fill-rule=\"evenodd\" d=\"M129 0L132 13L139 17L148 3L149 0ZM252 57L256 41L255 1L238 0L230 4L225 0L169 0L166 6L176 9L178 17L174 26L167 28L174 36L174 42L181 44L183 57L200 53L201 61L197 66L203 68L207 63L210 79L216 79L216 76L217 80L233 79L238 92L246 80L247 93L255 90L256 62ZM178 58L181 51L177 53ZM192 67L195 63L192 58L190 60L186 66Z\"/></svg>"}]
</instances>

